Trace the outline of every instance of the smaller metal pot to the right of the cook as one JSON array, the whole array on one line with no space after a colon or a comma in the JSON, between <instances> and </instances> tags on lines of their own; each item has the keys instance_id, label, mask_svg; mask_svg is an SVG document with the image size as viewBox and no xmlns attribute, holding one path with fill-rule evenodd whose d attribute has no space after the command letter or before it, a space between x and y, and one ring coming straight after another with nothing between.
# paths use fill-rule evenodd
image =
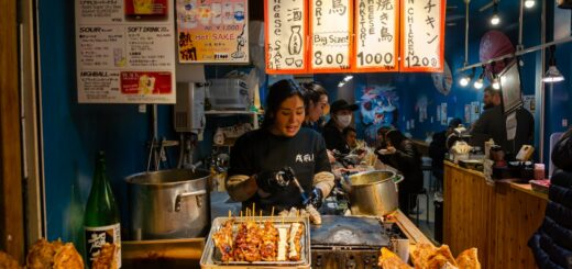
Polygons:
<instances>
[{"instance_id":1,"label":"smaller metal pot to the right of the cook","mask_svg":"<svg viewBox=\"0 0 572 269\"><path fill-rule=\"evenodd\" d=\"M345 188L354 215L387 215L399 205L397 183L403 176L389 170L374 170L351 175Z\"/></svg>"}]
</instances>

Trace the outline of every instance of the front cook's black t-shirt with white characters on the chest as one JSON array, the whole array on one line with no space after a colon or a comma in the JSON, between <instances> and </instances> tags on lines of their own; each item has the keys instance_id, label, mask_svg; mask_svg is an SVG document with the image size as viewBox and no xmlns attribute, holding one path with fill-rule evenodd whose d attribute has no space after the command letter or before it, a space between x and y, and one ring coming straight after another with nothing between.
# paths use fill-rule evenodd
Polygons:
<instances>
[{"instance_id":1,"label":"front cook's black t-shirt with white characters on the chest","mask_svg":"<svg viewBox=\"0 0 572 269\"><path fill-rule=\"evenodd\" d=\"M229 176L252 176L261 171L277 171L285 166L294 169L300 186L310 193L314 175L331 171L326 144L316 131L300 128L294 137L276 136L266 130L249 132L234 144L230 153ZM243 203L265 211L280 212L301 205L299 190L290 184L284 192L261 198L257 193Z\"/></svg>"}]
</instances>

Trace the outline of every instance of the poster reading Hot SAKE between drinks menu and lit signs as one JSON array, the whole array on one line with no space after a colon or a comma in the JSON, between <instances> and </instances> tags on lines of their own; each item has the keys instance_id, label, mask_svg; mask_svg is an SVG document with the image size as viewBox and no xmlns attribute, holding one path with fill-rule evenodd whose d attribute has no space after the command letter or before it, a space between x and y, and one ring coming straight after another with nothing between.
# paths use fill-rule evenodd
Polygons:
<instances>
[{"instance_id":1,"label":"poster reading Hot SAKE between drinks menu and lit signs","mask_svg":"<svg viewBox=\"0 0 572 269\"><path fill-rule=\"evenodd\" d=\"M248 0L177 0L180 63L249 63Z\"/></svg>"}]
</instances>

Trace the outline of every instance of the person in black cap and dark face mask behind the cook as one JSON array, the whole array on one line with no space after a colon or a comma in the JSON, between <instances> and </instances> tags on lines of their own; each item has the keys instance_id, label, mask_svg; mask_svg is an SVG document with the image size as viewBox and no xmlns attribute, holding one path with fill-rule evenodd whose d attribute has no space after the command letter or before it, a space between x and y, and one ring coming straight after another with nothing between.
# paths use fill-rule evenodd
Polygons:
<instances>
[{"instance_id":1,"label":"person in black cap and dark face mask behind the cook","mask_svg":"<svg viewBox=\"0 0 572 269\"><path fill-rule=\"evenodd\" d=\"M331 104L330 121L323 127L323 139L326 147L330 150L338 150L341 154L349 154L350 146L343 136L343 128L352 123L353 111L358 110L358 104L350 104L345 100L337 100Z\"/></svg>"}]
</instances>

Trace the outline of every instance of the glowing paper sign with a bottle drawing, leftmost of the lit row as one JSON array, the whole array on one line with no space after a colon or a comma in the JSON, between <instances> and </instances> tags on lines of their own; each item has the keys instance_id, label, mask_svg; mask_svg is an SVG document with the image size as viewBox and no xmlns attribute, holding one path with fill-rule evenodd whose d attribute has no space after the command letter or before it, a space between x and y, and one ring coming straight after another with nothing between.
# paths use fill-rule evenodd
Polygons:
<instances>
[{"instance_id":1,"label":"glowing paper sign with a bottle drawing, leftmost of the lit row","mask_svg":"<svg viewBox=\"0 0 572 269\"><path fill-rule=\"evenodd\" d=\"M306 72L306 1L266 0L264 3L266 72Z\"/></svg>"}]
</instances>

